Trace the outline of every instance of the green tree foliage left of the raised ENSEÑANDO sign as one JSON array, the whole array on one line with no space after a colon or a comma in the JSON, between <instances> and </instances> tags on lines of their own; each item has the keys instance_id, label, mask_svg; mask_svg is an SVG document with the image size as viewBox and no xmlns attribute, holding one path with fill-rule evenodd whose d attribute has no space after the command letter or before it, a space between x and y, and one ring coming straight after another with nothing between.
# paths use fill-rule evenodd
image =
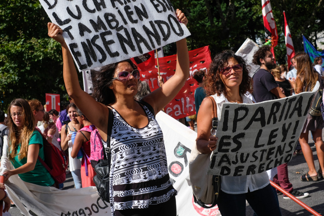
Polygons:
<instances>
[{"instance_id":1,"label":"green tree foliage left of the raised ENSE\u00d1ANDO sign","mask_svg":"<svg viewBox=\"0 0 324 216\"><path fill-rule=\"evenodd\" d=\"M66 100L62 49L47 35L39 1L1 1L0 15L0 109L19 97L45 104L45 93Z\"/></svg>"}]
</instances>

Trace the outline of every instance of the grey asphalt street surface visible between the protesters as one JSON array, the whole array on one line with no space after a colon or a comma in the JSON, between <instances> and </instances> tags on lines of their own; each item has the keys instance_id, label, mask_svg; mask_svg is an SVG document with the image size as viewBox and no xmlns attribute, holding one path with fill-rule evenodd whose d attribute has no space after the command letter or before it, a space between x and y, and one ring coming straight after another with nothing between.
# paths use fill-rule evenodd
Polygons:
<instances>
[{"instance_id":1,"label":"grey asphalt street surface visible between the protesters","mask_svg":"<svg viewBox=\"0 0 324 216\"><path fill-rule=\"evenodd\" d=\"M195 128L196 129L196 128ZM324 135L324 132L323 132ZM309 135L309 144L313 150L315 167L318 170L318 159L316 149L313 141ZM302 154L297 154L296 157L288 163L289 180L293 184L294 189L302 192L307 192L310 195L307 198L301 199L306 205L317 211L319 214L324 215L324 180L318 182L302 182L300 176L308 172L308 166ZM72 175L66 176L64 182L64 190L74 188ZM303 207L295 203L293 200L283 199L283 195L278 196L281 212L283 216L310 216L312 215ZM9 210L12 216L21 216L19 210L15 207ZM252 216L253 211L247 203L246 215Z\"/></svg>"}]
</instances>

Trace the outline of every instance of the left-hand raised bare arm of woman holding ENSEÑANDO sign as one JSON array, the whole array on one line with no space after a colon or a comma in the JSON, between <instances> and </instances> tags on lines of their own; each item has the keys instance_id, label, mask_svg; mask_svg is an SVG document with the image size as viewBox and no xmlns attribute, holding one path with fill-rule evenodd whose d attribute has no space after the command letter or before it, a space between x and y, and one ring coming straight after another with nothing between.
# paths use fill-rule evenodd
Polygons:
<instances>
[{"instance_id":1,"label":"left-hand raised bare arm of woman holding ENSE\u00d1ANDO sign","mask_svg":"<svg viewBox=\"0 0 324 216\"><path fill-rule=\"evenodd\" d=\"M107 131L108 108L98 103L80 87L72 55L62 36L63 30L54 23L48 23L48 35L62 45L63 52L63 78L68 95L75 105L93 122L101 131ZM100 115L98 115L100 113ZM104 137L103 137L104 138Z\"/></svg>"}]
</instances>

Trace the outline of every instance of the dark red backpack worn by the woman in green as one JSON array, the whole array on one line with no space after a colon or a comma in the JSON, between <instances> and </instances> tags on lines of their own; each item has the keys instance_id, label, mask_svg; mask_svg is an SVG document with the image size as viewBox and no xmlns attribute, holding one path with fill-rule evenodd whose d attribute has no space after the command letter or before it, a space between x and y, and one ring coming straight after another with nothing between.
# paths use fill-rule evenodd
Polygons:
<instances>
[{"instance_id":1,"label":"dark red backpack worn by the woman in green","mask_svg":"<svg viewBox=\"0 0 324 216\"><path fill-rule=\"evenodd\" d=\"M51 174L55 183L61 184L65 181L66 178L68 157L63 150L58 149L55 145L48 142L44 136L42 136L42 138L44 148L44 161L40 156L38 156L38 160Z\"/></svg>"}]
</instances>

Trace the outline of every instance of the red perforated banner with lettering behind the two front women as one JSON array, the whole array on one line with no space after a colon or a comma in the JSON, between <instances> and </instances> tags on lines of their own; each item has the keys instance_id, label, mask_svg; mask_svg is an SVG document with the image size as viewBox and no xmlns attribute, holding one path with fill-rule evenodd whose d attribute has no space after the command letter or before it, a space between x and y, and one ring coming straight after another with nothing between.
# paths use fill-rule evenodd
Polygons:
<instances>
[{"instance_id":1,"label":"red perforated banner with lettering behind the two front women","mask_svg":"<svg viewBox=\"0 0 324 216\"><path fill-rule=\"evenodd\" d=\"M160 74L166 82L173 76L176 70L177 55L165 56L159 58ZM195 71L206 70L212 62L208 46L189 51L190 77L185 85L172 101L165 107L165 112L175 119L184 118L196 114L194 92L198 87L197 81L192 77ZM157 80L157 63L155 67L148 71L141 71L141 81L145 81L150 86L151 91L160 87Z\"/></svg>"}]
</instances>

